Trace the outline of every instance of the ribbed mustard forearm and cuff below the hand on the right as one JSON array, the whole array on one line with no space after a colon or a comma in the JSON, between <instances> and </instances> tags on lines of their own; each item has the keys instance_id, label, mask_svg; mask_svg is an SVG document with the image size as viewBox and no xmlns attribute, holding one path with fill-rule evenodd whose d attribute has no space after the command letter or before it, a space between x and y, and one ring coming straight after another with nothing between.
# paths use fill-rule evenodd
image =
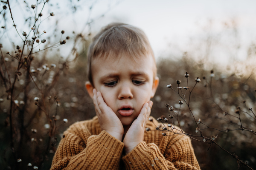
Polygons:
<instances>
[{"instance_id":1,"label":"ribbed mustard forearm and cuff below the hand on the right","mask_svg":"<svg viewBox=\"0 0 256 170\"><path fill-rule=\"evenodd\" d=\"M140 142L126 156L122 157L126 169L167 169L165 158L156 144Z\"/></svg>"}]
</instances>

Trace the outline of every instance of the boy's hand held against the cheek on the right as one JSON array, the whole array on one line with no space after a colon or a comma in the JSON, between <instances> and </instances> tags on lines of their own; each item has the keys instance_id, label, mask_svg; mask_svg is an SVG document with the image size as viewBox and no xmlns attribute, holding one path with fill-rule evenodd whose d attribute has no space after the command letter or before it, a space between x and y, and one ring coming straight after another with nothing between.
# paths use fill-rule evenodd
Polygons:
<instances>
[{"instance_id":1,"label":"boy's hand held against the cheek on the right","mask_svg":"<svg viewBox=\"0 0 256 170\"><path fill-rule=\"evenodd\" d=\"M134 122L131 124L131 127L125 134L125 138L123 140L123 143L125 144L125 154L131 152L131 150L133 150L137 144L143 142L145 126L146 122L148 121L152 105L152 101L144 103L139 116L134 120Z\"/></svg>"}]
</instances>

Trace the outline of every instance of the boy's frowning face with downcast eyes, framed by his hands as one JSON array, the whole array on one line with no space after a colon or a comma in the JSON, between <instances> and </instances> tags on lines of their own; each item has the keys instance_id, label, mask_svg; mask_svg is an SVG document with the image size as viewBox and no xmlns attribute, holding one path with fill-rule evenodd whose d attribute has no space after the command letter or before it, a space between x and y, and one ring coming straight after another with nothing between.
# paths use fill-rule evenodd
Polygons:
<instances>
[{"instance_id":1,"label":"boy's frowning face with downcast eyes, framed by his hands","mask_svg":"<svg viewBox=\"0 0 256 170\"><path fill-rule=\"evenodd\" d=\"M153 66L151 56L133 60L124 55L119 59L93 60L94 88L102 93L122 125L131 125L143 104L154 96L159 79L154 79Z\"/></svg>"}]
</instances>

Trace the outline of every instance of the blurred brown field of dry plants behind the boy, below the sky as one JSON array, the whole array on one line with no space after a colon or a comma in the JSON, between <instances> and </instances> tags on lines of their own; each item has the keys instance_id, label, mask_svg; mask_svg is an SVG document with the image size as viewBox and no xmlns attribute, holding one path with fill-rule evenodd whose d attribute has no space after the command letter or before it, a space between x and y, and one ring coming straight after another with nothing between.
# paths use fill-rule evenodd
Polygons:
<instances>
[{"instance_id":1,"label":"blurred brown field of dry plants behind the boy, below the sky","mask_svg":"<svg viewBox=\"0 0 256 170\"><path fill-rule=\"evenodd\" d=\"M40 6L37 14L41 11L43 3L46 2L36 2L36 8ZM1 16L4 20L7 20L6 15L9 14L7 2L6 6ZM71 9L72 12L76 11L74 11L76 6L79 5L75 4ZM56 9L54 7L50 9ZM31 15L33 14L30 5L26 4L24 8L26 11L30 10ZM91 9L92 7L89 11ZM46 16L45 13L43 14L43 17ZM29 19L29 27L33 26L32 18ZM12 24L12 20L9 21L8 24ZM9 25L5 25L3 29L7 29ZM39 25L36 24L35 28ZM28 40L24 41L26 45L20 40L17 41L19 38L17 37L14 42L11 42L12 51L9 51L9 54L7 52L10 47L6 45L6 42L1 42L0 65L3 74L1 74L0 82L0 165L3 170L26 169L29 163L32 167L37 166L41 170L48 170L63 132L74 122L91 119L96 115L93 101L84 87L87 80L86 52L92 38L91 34L94 32L90 26L81 33L61 32L57 29L57 19L53 27L52 32L46 30L47 34L45 34L48 37L44 37L45 44L43 42L37 44L36 39L32 39L33 36L40 34L34 32L33 35L29 35L28 31L26 33L28 35L22 37ZM17 34L15 29L12 31L13 34ZM6 31L0 33L4 35ZM66 34L70 37L65 38ZM22 33L20 35L22 36ZM39 39L39 36L37 38ZM38 46L33 47L34 44ZM17 48L17 45L20 45L20 48ZM60 45L62 46L54 50ZM70 48L67 58L60 54L64 48ZM29 49L33 49L34 54ZM251 62L251 59L255 58L255 49L255 45L248 48L249 57L244 63ZM249 108L252 108L252 111L256 113L255 65L252 68L246 67L243 63L234 62L230 64L231 66L223 68L209 62L208 59L203 58L198 61L195 58L193 53L185 52L180 59L174 59L168 55L158 59L160 84L152 99L154 105L151 116L169 118L171 113L166 108L166 103L172 105L175 111L179 110L180 96L166 85L172 84L172 87L177 90L175 82L180 79L180 85L187 86L184 77L187 71L190 74L188 86L192 89L195 85L195 78L199 77L201 82L197 83L192 91L190 101L190 108L195 119L201 119L209 127L224 130L218 134L215 142L230 153L235 153L240 160L256 169L256 133L237 130L240 127L240 120L234 117L238 116L235 110L240 107L243 127L256 131L256 120L253 118L253 113L249 111ZM19 69L17 69L18 65L20 65ZM211 74L211 70L214 71L214 75ZM243 103L244 100L245 103ZM227 111L228 115L224 115L224 111ZM185 104L181 106L179 122L186 133L198 134L195 132L197 124ZM178 125L175 118L173 123ZM199 126L201 129L206 127L203 124ZM227 128L236 130L226 132ZM203 133L204 136L210 138L215 136L218 130L206 128ZM202 170L237 169L236 159L215 144L209 145L194 139L192 139L192 144ZM22 161L17 162L17 159ZM243 166L239 169L248 168Z\"/></svg>"}]
</instances>

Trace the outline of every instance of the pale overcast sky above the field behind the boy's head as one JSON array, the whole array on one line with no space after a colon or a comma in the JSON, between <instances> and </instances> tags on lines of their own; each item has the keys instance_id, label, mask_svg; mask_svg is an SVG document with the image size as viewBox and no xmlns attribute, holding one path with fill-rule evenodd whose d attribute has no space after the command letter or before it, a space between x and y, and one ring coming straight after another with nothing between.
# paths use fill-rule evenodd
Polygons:
<instances>
[{"instance_id":1,"label":"pale overcast sky above the field behind the boy's head","mask_svg":"<svg viewBox=\"0 0 256 170\"><path fill-rule=\"evenodd\" d=\"M35 0L26 2L35 4ZM207 43L204 43L207 36L214 35L211 44L214 48L208 49L211 58L221 62L228 62L232 57L243 60L247 55L247 47L256 38L255 0L73 0L71 2L49 0L49 4L53 6L58 3L59 8L46 6L42 13L46 16L47 12L53 11L59 20L60 29L64 29L69 34L72 31L81 31L88 18L88 8L94 4L90 19L98 18L108 12L92 24L93 31L99 31L102 26L113 21L137 26L148 36L156 58L180 57L184 51L192 51L193 55L202 57L207 51ZM61 16L73 5L77 5L76 13L69 12ZM2 6L1 4L1 8ZM11 2L11 6L15 21L18 23L20 13L26 12L18 8L17 1L15 4ZM232 20L236 22L236 30L232 29ZM49 19L47 22L53 20ZM224 29L225 22L229 29ZM42 27L42 29L50 29L43 24ZM21 31L22 27L18 30ZM239 48L236 48L237 46Z\"/></svg>"}]
</instances>

